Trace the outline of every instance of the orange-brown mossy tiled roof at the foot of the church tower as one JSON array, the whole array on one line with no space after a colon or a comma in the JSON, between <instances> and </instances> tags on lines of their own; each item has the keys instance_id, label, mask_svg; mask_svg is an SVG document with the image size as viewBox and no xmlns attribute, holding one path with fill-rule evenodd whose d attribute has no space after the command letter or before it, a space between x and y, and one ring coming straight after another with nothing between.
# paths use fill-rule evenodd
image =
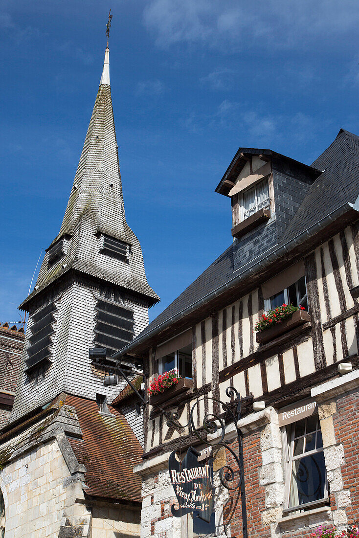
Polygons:
<instances>
[{"instance_id":1,"label":"orange-brown mossy tiled roof at the foot of the church tower","mask_svg":"<svg viewBox=\"0 0 359 538\"><path fill-rule=\"evenodd\" d=\"M86 466L86 493L94 497L141 502L141 479L133 467L143 450L124 416L112 406L100 414L95 401L66 395L82 430L82 440L69 439L79 463Z\"/></svg>"}]
</instances>

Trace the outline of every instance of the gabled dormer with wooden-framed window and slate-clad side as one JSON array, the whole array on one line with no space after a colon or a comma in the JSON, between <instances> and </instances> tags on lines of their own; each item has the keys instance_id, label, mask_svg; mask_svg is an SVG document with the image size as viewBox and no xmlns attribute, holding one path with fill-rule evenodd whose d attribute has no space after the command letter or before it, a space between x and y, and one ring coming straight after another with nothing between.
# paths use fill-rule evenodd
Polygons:
<instances>
[{"instance_id":1,"label":"gabled dormer with wooden-framed window and slate-clad side","mask_svg":"<svg viewBox=\"0 0 359 538\"><path fill-rule=\"evenodd\" d=\"M271 150L240 148L216 188L231 199L232 236L279 220L279 239L319 173Z\"/></svg>"}]
</instances>

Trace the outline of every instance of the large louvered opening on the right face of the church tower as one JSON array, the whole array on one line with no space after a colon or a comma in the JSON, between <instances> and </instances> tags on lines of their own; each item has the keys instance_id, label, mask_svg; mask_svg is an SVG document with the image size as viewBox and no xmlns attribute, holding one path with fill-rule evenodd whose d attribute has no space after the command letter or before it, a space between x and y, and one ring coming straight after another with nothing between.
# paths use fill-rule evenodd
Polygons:
<instances>
[{"instance_id":1,"label":"large louvered opening on the right face of the church tower","mask_svg":"<svg viewBox=\"0 0 359 538\"><path fill-rule=\"evenodd\" d=\"M98 298L95 321L94 343L105 348L108 357L133 339L133 310L122 303Z\"/></svg>"}]
</instances>

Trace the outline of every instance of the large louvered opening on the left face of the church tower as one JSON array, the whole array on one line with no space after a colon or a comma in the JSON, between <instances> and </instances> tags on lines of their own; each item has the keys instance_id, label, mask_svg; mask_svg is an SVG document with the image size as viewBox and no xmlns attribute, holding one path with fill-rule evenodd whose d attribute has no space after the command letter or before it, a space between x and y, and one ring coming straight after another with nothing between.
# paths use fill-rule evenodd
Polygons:
<instances>
[{"instance_id":1,"label":"large louvered opening on the left face of the church tower","mask_svg":"<svg viewBox=\"0 0 359 538\"><path fill-rule=\"evenodd\" d=\"M31 316L33 325L29 338L30 346L27 348L26 373L30 373L40 364L51 363L51 335L55 332L52 325L55 321L54 312L56 310L55 304L51 303Z\"/></svg>"}]
</instances>

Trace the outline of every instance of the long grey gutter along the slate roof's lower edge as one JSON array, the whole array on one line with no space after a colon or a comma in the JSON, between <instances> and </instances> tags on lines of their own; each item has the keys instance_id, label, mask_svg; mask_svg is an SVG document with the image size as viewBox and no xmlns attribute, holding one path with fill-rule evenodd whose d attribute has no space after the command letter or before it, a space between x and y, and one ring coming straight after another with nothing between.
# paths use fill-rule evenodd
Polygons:
<instances>
[{"instance_id":1,"label":"long grey gutter along the slate roof's lower edge","mask_svg":"<svg viewBox=\"0 0 359 538\"><path fill-rule=\"evenodd\" d=\"M169 327L172 323L179 321L181 318L187 316L188 314L191 314L194 310L198 309L199 307L206 305L207 303L215 299L221 293L227 291L230 288L235 287L238 284L238 282L240 282L241 280L250 277L251 275L257 273L262 268L270 265L273 261L280 258L283 254L291 251L295 246L298 246L299 244L303 243L305 239L309 239L309 237L313 237L317 232L319 232L323 228L326 228L326 226L328 226L330 223L335 221L337 218L341 217L344 213L346 213L350 209L355 209L356 211L359 211L358 199L355 201L354 204L350 202L346 202L342 204L342 206L332 211L332 213L329 213L328 215L323 217L320 221L313 224L310 228L308 228L304 232L299 233L293 239L291 239L290 241L285 243L283 246L281 246L278 250L272 252L265 258L261 259L249 269L243 271L242 273L236 274L236 276L233 277L228 282L226 282L226 284L223 284L219 288L216 288L213 292L210 292L207 295L204 295L201 299L194 302L191 306L185 308L184 310L181 310L181 312L168 318L166 321L163 321L162 323L160 323L159 325L151 329L149 332L146 332L145 334L139 336L135 340L132 340L132 342L125 345L124 348L122 348L119 351L116 351L116 353L112 355L112 358L117 359L119 357L122 357L126 353L129 353L131 350L136 349L137 345L140 343L143 343L147 338L150 338L151 336L155 336L160 331Z\"/></svg>"}]
</instances>

